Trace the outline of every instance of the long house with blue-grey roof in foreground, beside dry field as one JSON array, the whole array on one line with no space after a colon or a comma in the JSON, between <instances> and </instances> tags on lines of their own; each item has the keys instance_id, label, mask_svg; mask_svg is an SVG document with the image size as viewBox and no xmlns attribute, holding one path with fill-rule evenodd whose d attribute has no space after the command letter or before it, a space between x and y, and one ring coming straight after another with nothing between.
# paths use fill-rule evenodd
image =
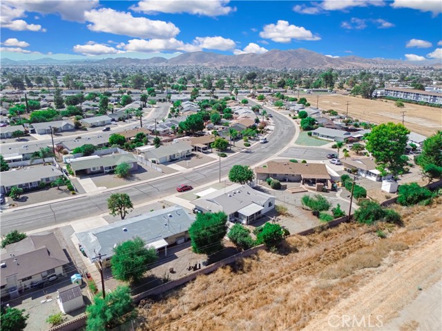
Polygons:
<instances>
[{"instance_id":1,"label":"long house with blue-grey roof in foreground, beside dry field","mask_svg":"<svg viewBox=\"0 0 442 331\"><path fill-rule=\"evenodd\" d=\"M86 232L77 232L75 236L90 261L101 254L106 256L104 261L108 262L113 256L113 249L119 243L135 237L143 239L146 247L156 250L164 248L164 256L167 256L169 245L184 243L189 239L188 230L193 221L193 214L186 212L180 205L175 205Z\"/></svg>"}]
</instances>

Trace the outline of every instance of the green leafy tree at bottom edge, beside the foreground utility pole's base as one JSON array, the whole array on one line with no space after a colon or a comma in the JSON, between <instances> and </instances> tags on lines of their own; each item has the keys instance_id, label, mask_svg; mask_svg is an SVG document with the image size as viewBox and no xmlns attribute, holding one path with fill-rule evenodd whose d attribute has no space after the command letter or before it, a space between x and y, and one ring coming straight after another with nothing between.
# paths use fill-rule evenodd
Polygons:
<instances>
[{"instance_id":1,"label":"green leafy tree at bottom edge, beside the foreground utility pole's base","mask_svg":"<svg viewBox=\"0 0 442 331\"><path fill-rule=\"evenodd\" d=\"M94 297L94 303L86 308L88 319L86 331L111 330L117 325L136 317L133 310L131 289L128 286L118 286L113 292Z\"/></svg>"}]
</instances>

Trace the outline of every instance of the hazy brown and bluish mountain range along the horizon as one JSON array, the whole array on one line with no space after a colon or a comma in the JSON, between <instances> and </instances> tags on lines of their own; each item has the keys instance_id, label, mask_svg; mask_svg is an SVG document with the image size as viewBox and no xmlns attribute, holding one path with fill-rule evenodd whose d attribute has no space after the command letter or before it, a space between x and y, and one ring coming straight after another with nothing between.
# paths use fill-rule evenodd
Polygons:
<instances>
[{"instance_id":1,"label":"hazy brown and bluish mountain range along the horizon","mask_svg":"<svg viewBox=\"0 0 442 331\"><path fill-rule=\"evenodd\" d=\"M441 68L441 63L437 61L402 61L397 59L365 59L363 57L329 57L323 54L298 48L297 50L269 50L264 54L240 54L224 55L213 52L189 52L180 54L171 59L163 57L152 57L151 59L132 59L128 57L117 57L114 59L87 59L87 60L55 60L50 58L37 59L31 61L14 61L11 59L1 59L2 66L12 65L61 65L61 64L102 64L116 66L239 66L274 69L304 69L304 68L416 68L420 66L433 66Z\"/></svg>"}]
</instances>

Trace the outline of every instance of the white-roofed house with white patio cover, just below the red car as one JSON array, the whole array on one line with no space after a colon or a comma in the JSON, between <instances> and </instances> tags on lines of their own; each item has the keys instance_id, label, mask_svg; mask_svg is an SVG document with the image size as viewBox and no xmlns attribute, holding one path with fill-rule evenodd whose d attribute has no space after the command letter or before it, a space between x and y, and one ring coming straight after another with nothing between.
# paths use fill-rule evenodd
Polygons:
<instances>
[{"instance_id":1,"label":"white-roofed house with white patio cover, just below the red car","mask_svg":"<svg viewBox=\"0 0 442 331\"><path fill-rule=\"evenodd\" d=\"M202 212L225 212L231 222L250 224L275 208L275 197L253 190L249 185L233 184L213 190L191 201Z\"/></svg>"}]
</instances>

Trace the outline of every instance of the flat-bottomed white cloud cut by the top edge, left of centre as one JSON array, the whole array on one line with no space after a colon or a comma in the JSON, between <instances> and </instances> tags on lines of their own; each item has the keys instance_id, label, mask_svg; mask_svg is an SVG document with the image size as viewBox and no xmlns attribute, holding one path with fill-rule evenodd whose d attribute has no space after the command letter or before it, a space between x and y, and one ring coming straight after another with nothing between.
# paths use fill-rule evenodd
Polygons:
<instances>
[{"instance_id":1,"label":"flat-bottomed white cloud cut by the top edge, left of centre","mask_svg":"<svg viewBox=\"0 0 442 331\"><path fill-rule=\"evenodd\" d=\"M236 8L227 6L229 0L142 0L131 10L137 12L167 12L176 14L186 12L195 15L220 16L236 11Z\"/></svg>"}]
</instances>

